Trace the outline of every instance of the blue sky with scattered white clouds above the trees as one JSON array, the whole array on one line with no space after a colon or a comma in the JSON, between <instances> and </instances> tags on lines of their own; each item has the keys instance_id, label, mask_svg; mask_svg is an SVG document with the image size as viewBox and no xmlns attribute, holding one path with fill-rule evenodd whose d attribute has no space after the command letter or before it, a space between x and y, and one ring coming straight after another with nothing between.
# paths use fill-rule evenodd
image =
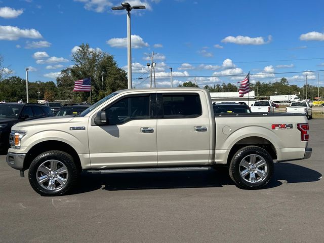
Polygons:
<instances>
[{"instance_id":1,"label":"blue sky with scattered white clouds above the trees","mask_svg":"<svg viewBox=\"0 0 324 243\"><path fill-rule=\"evenodd\" d=\"M128 1L132 10L133 86L149 86L154 55L158 87L186 81L199 87L251 82L317 86L324 70L324 3L317 1ZM115 0L0 0L0 55L13 75L53 80L73 64L82 43L114 56L127 70L126 11ZM277 74L282 72L291 72ZM273 74L275 73L275 74ZM226 76L240 75L240 76ZM143 79L136 79L143 77ZM196 77L196 78L194 78ZM324 71L319 72L323 86Z\"/></svg>"}]
</instances>

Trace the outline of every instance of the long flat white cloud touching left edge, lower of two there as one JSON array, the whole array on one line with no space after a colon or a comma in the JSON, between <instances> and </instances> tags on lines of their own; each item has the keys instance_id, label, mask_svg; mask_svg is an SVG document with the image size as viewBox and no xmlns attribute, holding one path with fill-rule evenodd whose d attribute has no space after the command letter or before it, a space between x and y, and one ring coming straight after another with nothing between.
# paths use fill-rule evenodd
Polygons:
<instances>
[{"instance_id":1,"label":"long flat white cloud touching left edge, lower of two there","mask_svg":"<svg viewBox=\"0 0 324 243\"><path fill-rule=\"evenodd\" d=\"M7 41L16 41L19 38L38 39L42 38L42 35L35 29L20 29L18 27L10 25L0 25L0 39L5 39Z\"/></svg>"}]
</instances>

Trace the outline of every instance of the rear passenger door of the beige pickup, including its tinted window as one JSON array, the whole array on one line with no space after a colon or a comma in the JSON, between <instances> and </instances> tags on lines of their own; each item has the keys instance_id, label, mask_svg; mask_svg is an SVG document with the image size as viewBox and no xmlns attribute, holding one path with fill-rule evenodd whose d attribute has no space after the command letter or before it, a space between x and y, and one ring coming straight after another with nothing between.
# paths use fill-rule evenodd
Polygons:
<instances>
[{"instance_id":1,"label":"rear passenger door of the beige pickup, including its tinted window","mask_svg":"<svg viewBox=\"0 0 324 243\"><path fill-rule=\"evenodd\" d=\"M157 91L158 166L209 163L211 114L202 100L208 102L200 92Z\"/></svg>"}]
</instances>

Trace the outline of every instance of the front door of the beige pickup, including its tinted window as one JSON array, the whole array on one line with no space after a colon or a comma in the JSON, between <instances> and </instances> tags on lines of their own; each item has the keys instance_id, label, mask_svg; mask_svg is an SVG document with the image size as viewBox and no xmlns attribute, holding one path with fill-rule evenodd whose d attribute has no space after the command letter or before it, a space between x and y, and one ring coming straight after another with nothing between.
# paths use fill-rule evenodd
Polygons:
<instances>
[{"instance_id":1,"label":"front door of the beige pickup, including its tinted window","mask_svg":"<svg viewBox=\"0 0 324 243\"><path fill-rule=\"evenodd\" d=\"M92 168L157 166L155 93L125 94L103 110L108 125L89 124Z\"/></svg>"}]
</instances>

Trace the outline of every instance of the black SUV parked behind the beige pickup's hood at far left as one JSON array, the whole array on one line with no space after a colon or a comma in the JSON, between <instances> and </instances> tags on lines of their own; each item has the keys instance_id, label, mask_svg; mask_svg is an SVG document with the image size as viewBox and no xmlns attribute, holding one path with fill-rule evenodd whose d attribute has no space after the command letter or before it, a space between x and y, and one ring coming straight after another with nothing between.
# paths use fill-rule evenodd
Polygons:
<instances>
[{"instance_id":1,"label":"black SUV parked behind the beige pickup's hood at far left","mask_svg":"<svg viewBox=\"0 0 324 243\"><path fill-rule=\"evenodd\" d=\"M53 116L50 107L41 104L0 103L0 150L9 148L11 127L24 120Z\"/></svg>"}]
</instances>

